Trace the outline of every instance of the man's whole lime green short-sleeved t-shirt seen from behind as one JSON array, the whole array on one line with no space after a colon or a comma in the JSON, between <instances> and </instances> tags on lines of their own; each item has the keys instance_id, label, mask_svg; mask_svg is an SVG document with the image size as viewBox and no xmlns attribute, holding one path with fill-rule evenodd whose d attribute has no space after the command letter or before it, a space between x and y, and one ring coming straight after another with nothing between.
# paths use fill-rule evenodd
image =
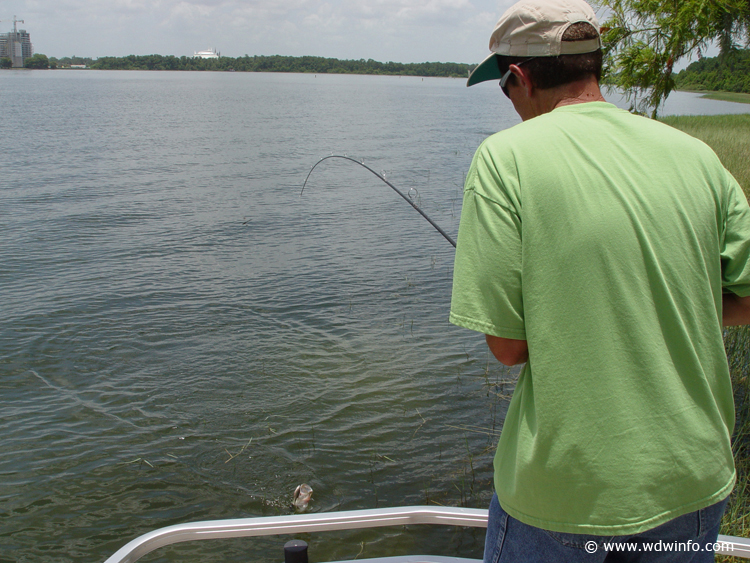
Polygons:
<instances>
[{"instance_id":1,"label":"man's whole lime green short-sleeved t-shirt seen from behind","mask_svg":"<svg viewBox=\"0 0 750 563\"><path fill-rule=\"evenodd\" d=\"M450 320L528 342L495 456L506 512L622 535L729 494L724 290L750 295L750 208L702 142L593 102L482 143Z\"/></svg>"}]
</instances>

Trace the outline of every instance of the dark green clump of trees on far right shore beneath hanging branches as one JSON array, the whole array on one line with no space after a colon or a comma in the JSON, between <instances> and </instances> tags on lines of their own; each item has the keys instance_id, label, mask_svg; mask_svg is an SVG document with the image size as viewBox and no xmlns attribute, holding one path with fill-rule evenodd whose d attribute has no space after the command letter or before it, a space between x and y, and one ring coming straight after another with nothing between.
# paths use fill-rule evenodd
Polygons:
<instances>
[{"instance_id":1,"label":"dark green clump of trees on far right shore beneath hanging branches","mask_svg":"<svg viewBox=\"0 0 750 563\"><path fill-rule=\"evenodd\" d=\"M750 93L750 51L733 49L691 63L675 76L680 90Z\"/></svg>"}]
</instances>

